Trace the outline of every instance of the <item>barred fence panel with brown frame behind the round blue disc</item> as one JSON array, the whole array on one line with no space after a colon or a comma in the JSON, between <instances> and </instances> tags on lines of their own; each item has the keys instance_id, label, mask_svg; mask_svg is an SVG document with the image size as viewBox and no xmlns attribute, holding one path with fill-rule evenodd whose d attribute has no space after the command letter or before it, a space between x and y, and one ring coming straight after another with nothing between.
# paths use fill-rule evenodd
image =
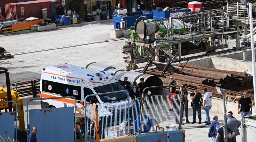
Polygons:
<instances>
[{"instance_id":1,"label":"barred fence panel with brown frame behind the round blue disc","mask_svg":"<svg viewBox=\"0 0 256 142\"><path fill-rule=\"evenodd\" d=\"M173 107L171 107L171 104ZM133 100L132 108L132 133L138 133L134 130L135 121L141 115L141 98ZM150 116L152 127L150 131L156 131L156 126L164 127L164 130L178 129L181 113L181 95L175 96L145 96L143 104L143 114ZM143 122L141 124L143 126ZM159 130L161 130L159 128ZM143 127L142 130L143 131Z\"/></svg>"}]
</instances>

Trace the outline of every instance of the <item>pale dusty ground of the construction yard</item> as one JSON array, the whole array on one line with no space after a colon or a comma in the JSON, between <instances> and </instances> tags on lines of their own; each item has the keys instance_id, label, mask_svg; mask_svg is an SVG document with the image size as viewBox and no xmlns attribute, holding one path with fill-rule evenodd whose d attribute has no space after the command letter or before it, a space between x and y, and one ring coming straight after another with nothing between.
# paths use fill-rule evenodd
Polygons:
<instances>
[{"instance_id":1,"label":"pale dusty ground of the construction yard","mask_svg":"<svg viewBox=\"0 0 256 142\"><path fill-rule=\"evenodd\" d=\"M112 28L113 23L108 22L60 28L53 31L3 36L0 38L0 46L4 47L11 54L19 54L75 44L105 41L110 39L110 29ZM0 63L0 66L9 68L11 82L40 78L43 67L63 63L85 67L91 62L98 62L115 66L118 69L124 69L126 64L123 63L123 57L125 55L121 53L121 47L125 40L15 55L14 58ZM231 41L229 43L232 47L234 46L234 41ZM139 64L139 67L143 65ZM5 78L4 75L0 75L0 78L0 84L5 84L5 79L2 79ZM25 99L25 101L27 100ZM33 109L40 108L39 103L39 101L31 102L30 107ZM26 109L26 103L24 103L24 109ZM223 121L222 112L210 112L211 117L214 114L218 115L219 120ZM204 121L204 111L202 111L202 118L202 121ZM192 108L189 109L189 120L192 121ZM183 128L186 130L186 141L210 141L207 138L209 126L205 127L204 124L185 124ZM237 139L241 139L241 137Z\"/></svg>"}]
</instances>

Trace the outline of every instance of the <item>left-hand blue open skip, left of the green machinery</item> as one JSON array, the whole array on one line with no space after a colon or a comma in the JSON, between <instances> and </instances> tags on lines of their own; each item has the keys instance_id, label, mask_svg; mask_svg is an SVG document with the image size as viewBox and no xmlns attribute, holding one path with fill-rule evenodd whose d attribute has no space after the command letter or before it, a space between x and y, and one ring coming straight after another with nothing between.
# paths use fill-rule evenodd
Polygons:
<instances>
[{"instance_id":1,"label":"left-hand blue open skip, left of the green machinery","mask_svg":"<svg viewBox=\"0 0 256 142\"><path fill-rule=\"evenodd\" d=\"M138 20L141 20L141 19L148 20L153 18L152 13L145 12L145 11L127 13L126 16L127 17L124 17L124 14L113 16L114 29L120 29L120 22L123 22L123 21L127 23L127 28L131 26L135 26L136 19L138 19L140 16L147 16L147 17L146 18L142 17Z\"/></svg>"}]
</instances>

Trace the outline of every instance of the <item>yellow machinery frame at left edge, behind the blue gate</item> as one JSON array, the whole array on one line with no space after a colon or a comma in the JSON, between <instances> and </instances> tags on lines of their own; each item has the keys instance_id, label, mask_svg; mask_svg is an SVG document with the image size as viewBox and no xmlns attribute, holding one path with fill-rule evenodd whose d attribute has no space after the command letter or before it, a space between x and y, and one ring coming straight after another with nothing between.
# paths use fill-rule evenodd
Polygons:
<instances>
[{"instance_id":1,"label":"yellow machinery frame at left edge, behind the blue gate","mask_svg":"<svg viewBox=\"0 0 256 142\"><path fill-rule=\"evenodd\" d=\"M11 90L12 101L17 103L18 108L18 124L19 129L25 131L25 122L24 122L24 111L23 111L23 99L20 98L19 94L16 91ZM7 89L4 87L0 87L0 101L8 101L7 100ZM8 103L1 103L0 110L7 111ZM15 110L15 104L12 104L12 109Z\"/></svg>"}]
</instances>

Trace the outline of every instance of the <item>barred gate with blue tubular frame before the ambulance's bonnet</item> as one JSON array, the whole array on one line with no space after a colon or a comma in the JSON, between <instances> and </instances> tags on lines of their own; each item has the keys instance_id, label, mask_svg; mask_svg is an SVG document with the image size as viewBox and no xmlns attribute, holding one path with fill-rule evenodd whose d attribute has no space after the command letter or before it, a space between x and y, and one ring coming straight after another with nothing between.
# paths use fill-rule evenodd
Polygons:
<instances>
[{"instance_id":1,"label":"barred gate with blue tubular frame before the ambulance's bonnet","mask_svg":"<svg viewBox=\"0 0 256 142\"><path fill-rule=\"evenodd\" d=\"M113 138L130 133L130 96L127 90L92 94L85 97L107 95L110 93L127 93L127 100L113 101L108 103L98 103L98 119L100 128L100 139ZM85 142L95 141L95 122L93 105L85 105Z\"/></svg>"}]
</instances>

